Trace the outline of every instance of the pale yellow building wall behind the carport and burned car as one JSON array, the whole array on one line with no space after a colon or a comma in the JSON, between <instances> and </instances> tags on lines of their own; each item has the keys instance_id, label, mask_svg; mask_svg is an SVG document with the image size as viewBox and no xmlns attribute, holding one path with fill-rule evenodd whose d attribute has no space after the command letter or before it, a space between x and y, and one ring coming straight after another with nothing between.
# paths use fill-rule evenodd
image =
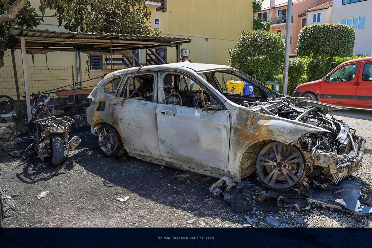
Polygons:
<instances>
[{"instance_id":1,"label":"pale yellow building wall behind the carport and burned car","mask_svg":"<svg viewBox=\"0 0 372 248\"><path fill-rule=\"evenodd\" d=\"M189 49L192 62L229 64L228 49L234 48L243 30L250 31L253 22L252 0L167 0L167 12L151 10L151 26L160 28L161 35L192 38L181 48ZM39 0L31 0L36 10ZM53 15L47 12L45 15ZM155 25L155 19L160 25ZM57 19L44 18L37 29L66 31L58 27ZM145 63L145 50L141 51L141 62ZM26 55L30 94L66 86L77 81L77 59L75 52L48 52L47 55ZM81 80L102 77L110 72L110 66L101 71L89 70L86 62L88 55L81 53ZM20 95L24 96L21 51L15 51ZM176 62L176 48L167 49L167 60ZM17 100L12 58L8 50L4 57L5 66L0 68L0 94L12 96ZM71 70L74 67L74 76ZM108 68L107 68L108 67ZM48 69L49 68L49 69ZM104 66L105 68L105 66ZM124 67L114 66L114 70ZM82 84L83 87L96 85L101 78ZM64 87L63 89L70 89ZM55 95L52 93L51 95ZM24 98L23 98L24 99ZM20 100L23 100L20 99Z\"/></svg>"}]
</instances>

